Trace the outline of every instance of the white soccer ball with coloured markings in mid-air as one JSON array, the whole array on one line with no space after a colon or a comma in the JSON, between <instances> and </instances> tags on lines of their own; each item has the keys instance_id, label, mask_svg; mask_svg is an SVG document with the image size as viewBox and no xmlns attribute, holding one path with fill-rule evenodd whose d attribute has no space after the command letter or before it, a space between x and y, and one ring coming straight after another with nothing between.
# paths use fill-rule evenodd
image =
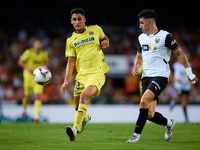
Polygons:
<instances>
[{"instance_id":1,"label":"white soccer ball with coloured markings in mid-air","mask_svg":"<svg viewBox=\"0 0 200 150\"><path fill-rule=\"evenodd\" d=\"M40 85L46 85L51 81L51 72L47 67L38 67L33 72L33 80Z\"/></svg>"}]
</instances>

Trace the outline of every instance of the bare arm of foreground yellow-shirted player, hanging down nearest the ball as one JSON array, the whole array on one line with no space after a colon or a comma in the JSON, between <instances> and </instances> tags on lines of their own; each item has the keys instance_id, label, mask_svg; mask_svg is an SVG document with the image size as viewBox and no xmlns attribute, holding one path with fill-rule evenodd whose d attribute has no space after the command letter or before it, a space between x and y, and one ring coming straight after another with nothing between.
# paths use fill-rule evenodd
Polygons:
<instances>
[{"instance_id":1,"label":"bare arm of foreground yellow-shirted player, hanging down nearest the ball","mask_svg":"<svg viewBox=\"0 0 200 150\"><path fill-rule=\"evenodd\" d=\"M64 82L63 82L63 84L61 86L61 89L60 89L60 94L61 95L65 95L65 89L67 88L69 79L72 76L72 73L74 71L75 63L76 63L76 58L75 57L68 57L68 63L67 63L67 66L66 66L65 79L64 79Z\"/></svg>"}]
</instances>

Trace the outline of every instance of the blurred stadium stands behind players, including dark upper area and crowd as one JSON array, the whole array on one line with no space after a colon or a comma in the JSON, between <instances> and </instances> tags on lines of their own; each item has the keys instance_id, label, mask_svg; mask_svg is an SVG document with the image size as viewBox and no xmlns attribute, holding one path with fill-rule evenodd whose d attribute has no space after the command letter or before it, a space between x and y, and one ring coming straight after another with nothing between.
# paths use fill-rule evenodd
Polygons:
<instances>
[{"instance_id":1,"label":"blurred stadium stands behind players, including dark upper area and crowd","mask_svg":"<svg viewBox=\"0 0 200 150\"><path fill-rule=\"evenodd\" d=\"M200 78L200 21L196 1L151 0L8 0L0 5L0 100L2 104L21 104L23 97L22 69L17 65L19 56L39 38L43 49L49 53L48 68L53 79L45 87L43 103L71 104L74 88L70 80L66 96L59 90L64 79L65 42L73 32L69 12L75 7L86 11L86 25L98 24L110 39L110 47L104 51L111 70L101 95L92 99L93 104L133 104L139 102L138 77L129 76L137 52L137 14L147 8L158 15L157 26L171 32ZM130 57L131 56L131 57ZM119 59L116 59L119 58ZM116 60L119 60L117 62ZM170 64L175 61L172 57ZM124 69L121 73L120 69ZM130 80L129 80L130 79ZM170 80L171 81L171 80ZM129 89L129 83L131 89ZM160 97L160 103L168 104L175 90L172 82ZM200 104L200 84L192 87L190 104ZM33 99L33 97L32 97ZM8 106L6 106L8 107Z\"/></svg>"}]
</instances>

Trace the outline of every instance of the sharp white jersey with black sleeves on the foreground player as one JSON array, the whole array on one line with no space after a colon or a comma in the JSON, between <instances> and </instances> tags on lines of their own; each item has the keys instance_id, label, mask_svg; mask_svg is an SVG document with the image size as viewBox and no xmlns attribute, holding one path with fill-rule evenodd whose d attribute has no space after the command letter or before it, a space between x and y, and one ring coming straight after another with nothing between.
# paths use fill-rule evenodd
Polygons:
<instances>
[{"instance_id":1,"label":"sharp white jersey with black sleeves on the foreground player","mask_svg":"<svg viewBox=\"0 0 200 150\"><path fill-rule=\"evenodd\" d=\"M167 31L159 30L153 35L142 33L138 37L138 53L142 53L144 77L169 78L171 51L179 48L174 37Z\"/></svg>"}]
</instances>

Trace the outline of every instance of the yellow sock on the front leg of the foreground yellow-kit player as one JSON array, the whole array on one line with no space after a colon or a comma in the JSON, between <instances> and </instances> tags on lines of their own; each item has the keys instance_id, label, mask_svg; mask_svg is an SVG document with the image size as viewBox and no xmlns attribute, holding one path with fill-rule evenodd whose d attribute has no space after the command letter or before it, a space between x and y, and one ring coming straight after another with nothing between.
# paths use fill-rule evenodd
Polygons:
<instances>
[{"instance_id":1,"label":"yellow sock on the front leg of the foreground yellow-kit player","mask_svg":"<svg viewBox=\"0 0 200 150\"><path fill-rule=\"evenodd\" d=\"M87 105L86 104L79 104L78 110L76 111L75 119L74 119L74 127L78 129L83 121L86 120L87 116Z\"/></svg>"}]
</instances>

